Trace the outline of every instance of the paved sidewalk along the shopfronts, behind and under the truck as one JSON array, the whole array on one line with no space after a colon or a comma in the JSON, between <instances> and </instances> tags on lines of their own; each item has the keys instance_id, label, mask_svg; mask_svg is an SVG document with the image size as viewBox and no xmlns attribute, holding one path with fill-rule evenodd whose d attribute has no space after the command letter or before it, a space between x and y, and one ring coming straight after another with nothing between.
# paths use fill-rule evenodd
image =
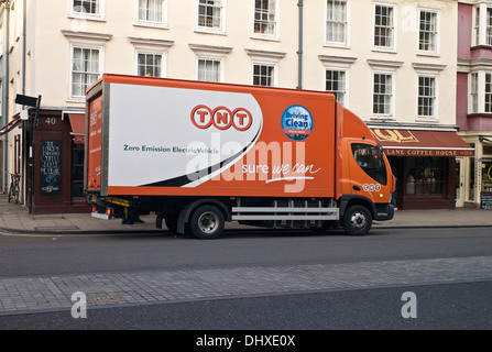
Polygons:
<instances>
[{"instance_id":1,"label":"paved sidewalk along the shopfronts, behind and under the truck","mask_svg":"<svg viewBox=\"0 0 492 352\"><path fill-rule=\"evenodd\" d=\"M0 232L3 233L122 233L165 231L155 228L155 215L141 216L143 223L122 224L121 219L101 220L90 213L30 215L22 205L9 204L0 194ZM391 221L374 221L373 229L492 227L492 210L460 208L455 210L398 210ZM236 222L226 229L252 229Z\"/></svg>"}]
</instances>

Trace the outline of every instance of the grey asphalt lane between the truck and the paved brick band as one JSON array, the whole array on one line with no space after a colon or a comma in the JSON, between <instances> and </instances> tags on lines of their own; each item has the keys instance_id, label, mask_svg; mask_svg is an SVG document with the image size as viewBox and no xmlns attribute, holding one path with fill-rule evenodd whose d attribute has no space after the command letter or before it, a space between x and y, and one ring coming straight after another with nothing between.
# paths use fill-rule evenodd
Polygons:
<instances>
[{"instance_id":1,"label":"grey asphalt lane between the truck and the paved brick band","mask_svg":"<svg viewBox=\"0 0 492 352\"><path fill-rule=\"evenodd\" d=\"M0 277L352 263L492 255L492 229L342 232L234 231L219 240L164 234L0 235Z\"/></svg>"}]
</instances>

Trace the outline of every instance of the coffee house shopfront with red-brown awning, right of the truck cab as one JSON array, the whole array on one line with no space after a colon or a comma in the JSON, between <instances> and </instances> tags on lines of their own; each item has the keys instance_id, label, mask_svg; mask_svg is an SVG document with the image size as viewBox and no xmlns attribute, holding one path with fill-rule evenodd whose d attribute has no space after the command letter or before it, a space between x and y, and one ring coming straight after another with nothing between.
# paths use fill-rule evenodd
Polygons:
<instances>
[{"instance_id":1,"label":"coffee house shopfront with red-brown awning, right of the truck cab","mask_svg":"<svg viewBox=\"0 0 492 352\"><path fill-rule=\"evenodd\" d=\"M397 180L398 209L453 209L456 160L473 148L451 129L372 128Z\"/></svg>"}]
</instances>

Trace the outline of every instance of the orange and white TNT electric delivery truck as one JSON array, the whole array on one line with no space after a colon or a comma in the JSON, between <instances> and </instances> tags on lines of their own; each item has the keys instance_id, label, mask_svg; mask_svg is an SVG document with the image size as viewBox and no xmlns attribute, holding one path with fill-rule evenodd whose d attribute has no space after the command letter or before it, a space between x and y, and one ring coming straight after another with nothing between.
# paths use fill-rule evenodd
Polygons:
<instances>
[{"instance_id":1,"label":"orange and white TNT electric delivery truck","mask_svg":"<svg viewBox=\"0 0 492 352\"><path fill-rule=\"evenodd\" d=\"M105 74L85 153L95 217L200 239L228 221L367 234L394 215L386 156L329 92Z\"/></svg>"}]
</instances>

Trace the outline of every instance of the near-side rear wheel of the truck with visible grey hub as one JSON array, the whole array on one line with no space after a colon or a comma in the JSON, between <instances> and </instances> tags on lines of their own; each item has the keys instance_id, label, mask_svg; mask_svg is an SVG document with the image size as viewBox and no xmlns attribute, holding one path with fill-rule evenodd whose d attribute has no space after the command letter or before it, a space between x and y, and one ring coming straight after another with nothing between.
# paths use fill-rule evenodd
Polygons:
<instances>
[{"instance_id":1,"label":"near-side rear wheel of the truck with visible grey hub","mask_svg":"<svg viewBox=\"0 0 492 352\"><path fill-rule=\"evenodd\" d=\"M217 239L222 234L223 227L223 215L215 206L200 206L189 218L189 230L193 235L199 239Z\"/></svg>"}]
</instances>

